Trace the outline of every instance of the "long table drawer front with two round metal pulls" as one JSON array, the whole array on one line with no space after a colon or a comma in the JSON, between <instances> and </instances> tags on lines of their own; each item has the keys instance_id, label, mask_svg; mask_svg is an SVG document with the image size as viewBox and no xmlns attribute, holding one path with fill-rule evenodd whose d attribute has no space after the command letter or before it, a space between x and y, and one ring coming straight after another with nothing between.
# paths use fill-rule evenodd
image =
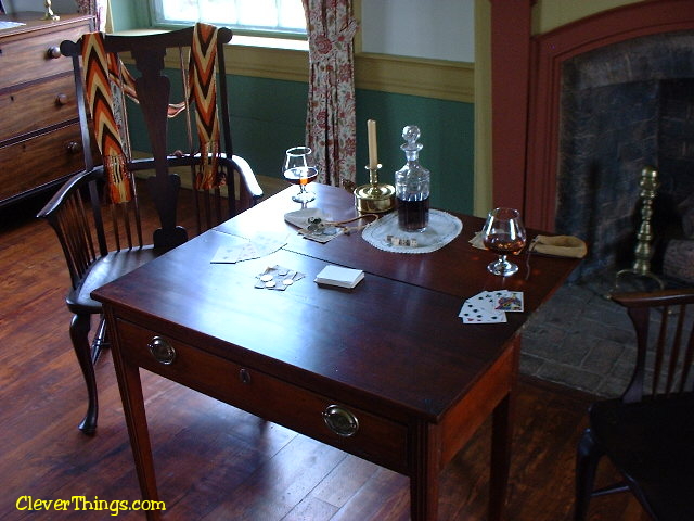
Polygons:
<instances>
[{"instance_id":1,"label":"long table drawer front with two round metal pulls","mask_svg":"<svg viewBox=\"0 0 694 521\"><path fill-rule=\"evenodd\" d=\"M120 351L129 363L383 467L408 473L406 425L211 355L166 334L125 320L118 320L117 325ZM170 363L157 361L151 350L154 339L162 344L160 351L170 355ZM358 427L350 435L339 435L327 427L326 412L337 430L344 428L349 432L355 428L355 423L350 423L354 419Z\"/></svg>"}]
</instances>

